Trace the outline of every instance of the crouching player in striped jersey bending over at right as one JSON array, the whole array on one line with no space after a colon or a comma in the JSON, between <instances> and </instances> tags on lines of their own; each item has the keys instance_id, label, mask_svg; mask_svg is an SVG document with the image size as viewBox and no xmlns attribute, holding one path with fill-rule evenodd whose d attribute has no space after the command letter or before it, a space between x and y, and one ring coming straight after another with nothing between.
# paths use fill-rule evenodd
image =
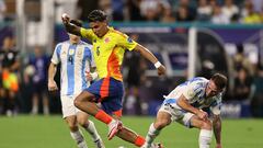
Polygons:
<instances>
[{"instance_id":1,"label":"crouching player in striped jersey bending over at right","mask_svg":"<svg viewBox=\"0 0 263 148\"><path fill-rule=\"evenodd\" d=\"M171 122L178 122L188 128L199 128L199 148L209 148L214 129L216 147L221 148L220 105L226 86L227 78L220 73L215 73L209 80L196 77L178 86L164 96L165 100L155 123L149 127L142 148L150 148L161 129ZM210 109L213 122L202 110L204 107Z\"/></svg>"}]
</instances>

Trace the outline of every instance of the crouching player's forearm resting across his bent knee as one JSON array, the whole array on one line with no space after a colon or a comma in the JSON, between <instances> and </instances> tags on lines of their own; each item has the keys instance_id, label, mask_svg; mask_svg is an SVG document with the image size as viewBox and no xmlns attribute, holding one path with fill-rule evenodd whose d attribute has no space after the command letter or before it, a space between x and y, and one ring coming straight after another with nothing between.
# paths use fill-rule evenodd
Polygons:
<instances>
[{"instance_id":1,"label":"crouching player's forearm resting across his bent knee","mask_svg":"<svg viewBox=\"0 0 263 148\"><path fill-rule=\"evenodd\" d=\"M208 118L208 114L202 110L198 110L194 106L192 106L186 98L182 94L178 100L178 105L182 107L183 110L186 110L195 115L197 115L201 119L206 121Z\"/></svg>"}]
</instances>

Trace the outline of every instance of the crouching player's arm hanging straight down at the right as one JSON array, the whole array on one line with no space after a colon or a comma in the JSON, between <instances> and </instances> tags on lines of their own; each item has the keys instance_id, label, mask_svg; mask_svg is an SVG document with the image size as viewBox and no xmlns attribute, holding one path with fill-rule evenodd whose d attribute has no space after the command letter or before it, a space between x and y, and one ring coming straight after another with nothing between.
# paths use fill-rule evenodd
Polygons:
<instances>
[{"instance_id":1,"label":"crouching player's arm hanging straight down at the right","mask_svg":"<svg viewBox=\"0 0 263 148\"><path fill-rule=\"evenodd\" d=\"M219 115L213 115L213 129L217 143L216 148L221 148L221 117Z\"/></svg>"}]
</instances>

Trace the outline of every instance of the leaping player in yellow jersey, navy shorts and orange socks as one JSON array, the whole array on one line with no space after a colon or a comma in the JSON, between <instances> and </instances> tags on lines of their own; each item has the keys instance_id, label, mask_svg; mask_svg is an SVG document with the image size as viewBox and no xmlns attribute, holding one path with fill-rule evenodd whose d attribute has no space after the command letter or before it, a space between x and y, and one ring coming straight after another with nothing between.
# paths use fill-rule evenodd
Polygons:
<instances>
[{"instance_id":1,"label":"leaping player in yellow jersey, navy shorts and orange socks","mask_svg":"<svg viewBox=\"0 0 263 148\"><path fill-rule=\"evenodd\" d=\"M134 42L126 34L107 25L107 16L101 10L93 10L88 15L90 29L83 29L70 23L67 14L62 15L62 23L67 32L88 38L92 42L94 61L99 80L82 91L75 100L75 105L93 115L99 121L108 125L108 139L115 135L122 139L141 147L145 138L123 127L122 99L124 94L123 76L121 66L125 49L139 52L150 60L158 70L158 75L165 73L165 67L146 47ZM91 73L95 76L94 73ZM101 102L102 109L96 105ZM152 148L160 148L152 145Z\"/></svg>"}]
</instances>

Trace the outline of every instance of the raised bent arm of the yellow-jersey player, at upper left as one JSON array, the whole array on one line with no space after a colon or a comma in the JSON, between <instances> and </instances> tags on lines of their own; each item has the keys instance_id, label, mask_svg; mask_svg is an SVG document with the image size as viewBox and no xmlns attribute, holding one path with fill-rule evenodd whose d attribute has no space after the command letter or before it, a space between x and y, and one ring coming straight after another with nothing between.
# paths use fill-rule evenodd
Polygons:
<instances>
[{"instance_id":1,"label":"raised bent arm of the yellow-jersey player, at upper left","mask_svg":"<svg viewBox=\"0 0 263 148\"><path fill-rule=\"evenodd\" d=\"M70 23L70 18L68 14L64 13L61 16L61 20L62 20L64 26L68 33L81 36L80 27Z\"/></svg>"}]
</instances>

